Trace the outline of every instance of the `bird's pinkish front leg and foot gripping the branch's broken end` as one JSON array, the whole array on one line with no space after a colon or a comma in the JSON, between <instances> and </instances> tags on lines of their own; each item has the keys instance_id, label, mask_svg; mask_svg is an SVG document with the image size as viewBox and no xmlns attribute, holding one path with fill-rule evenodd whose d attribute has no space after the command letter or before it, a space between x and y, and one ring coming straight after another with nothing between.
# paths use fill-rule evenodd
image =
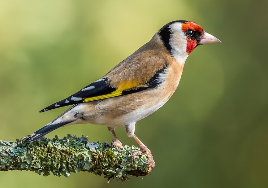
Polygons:
<instances>
[{"instance_id":1,"label":"bird's pinkish front leg and foot gripping the branch's broken end","mask_svg":"<svg viewBox=\"0 0 268 188\"><path fill-rule=\"evenodd\" d=\"M151 151L144 145L144 143L142 143L140 141L140 139L135 135L133 134L132 136L136 142L140 145L140 150L139 151L135 151L134 153L132 153L132 156L131 156L131 166L133 167L133 160L136 158L137 155L140 155L142 152L145 152L147 157L148 157L148 161L146 162L146 164L149 164L149 169L148 171L151 172L153 170L153 167L155 165L155 162L153 160L153 155L151 153Z\"/></svg>"}]
</instances>

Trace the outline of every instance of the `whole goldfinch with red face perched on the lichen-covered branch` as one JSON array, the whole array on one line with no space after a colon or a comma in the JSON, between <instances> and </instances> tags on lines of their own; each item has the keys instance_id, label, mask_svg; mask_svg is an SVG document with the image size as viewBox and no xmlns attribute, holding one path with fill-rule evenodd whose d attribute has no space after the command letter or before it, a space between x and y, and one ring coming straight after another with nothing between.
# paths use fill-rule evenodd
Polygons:
<instances>
[{"instance_id":1,"label":"whole goldfinch with red face perched on the lichen-covered branch","mask_svg":"<svg viewBox=\"0 0 268 188\"><path fill-rule=\"evenodd\" d=\"M40 112L72 105L56 119L21 142L33 142L62 126L74 124L104 125L113 134L112 146L123 145L115 128L124 126L129 137L140 146L133 152L145 152L149 171L155 166L151 151L134 134L136 122L162 107L175 92L188 55L199 45L221 42L197 23L175 20L167 23L152 39L128 56L106 75L75 94L45 107Z\"/></svg>"}]
</instances>

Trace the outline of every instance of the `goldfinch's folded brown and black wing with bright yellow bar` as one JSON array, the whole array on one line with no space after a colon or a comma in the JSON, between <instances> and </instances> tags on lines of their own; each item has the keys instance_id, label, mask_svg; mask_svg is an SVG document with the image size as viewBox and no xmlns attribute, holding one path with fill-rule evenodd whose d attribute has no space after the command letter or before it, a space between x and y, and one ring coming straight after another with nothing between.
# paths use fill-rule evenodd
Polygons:
<instances>
[{"instance_id":1,"label":"goldfinch's folded brown and black wing with bright yellow bar","mask_svg":"<svg viewBox=\"0 0 268 188\"><path fill-rule=\"evenodd\" d=\"M135 60L131 59L130 56L130 59L127 58L119 63L119 65L108 72L102 79L87 85L80 91L57 103L51 104L40 112L154 88L162 83L161 77L167 68L165 61L163 59L157 59L156 57L157 56L149 56L145 58L145 60L136 59L138 62L138 64L135 64L136 67L129 68L129 66L133 64L132 61ZM127 75L129 75L129 77L127 77Z\"/></svg>"}]
</instances>

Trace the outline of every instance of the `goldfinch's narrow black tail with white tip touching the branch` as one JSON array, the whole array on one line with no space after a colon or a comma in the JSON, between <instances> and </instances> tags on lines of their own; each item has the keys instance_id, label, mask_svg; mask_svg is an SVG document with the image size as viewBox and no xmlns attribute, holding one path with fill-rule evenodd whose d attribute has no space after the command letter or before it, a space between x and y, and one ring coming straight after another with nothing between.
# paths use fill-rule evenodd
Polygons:
<instances>
[{"instance_id":1,"label":"goldfinch's narrow black tail with white tip touching the branch","mask_svg":"<svg viewBox=\"0 0 268 188\"><path fill-rule=\"evenodd\" d=\"M62 127L63 125L67 125L70 122L60 122L57 124L54 124L54 121L52 121L51 123L45 125L44 127L42 127L41 129L39 129L38 131L32 133L31 135L29 135L26 138L22 138L19 141L21 142L32 142L35 140L38 140L39 138L41 138L42 136L45 136L47 133L50 133L51 131L54 131L55 129L58 129L59 127Z\"/></svg>"}]
</instances>

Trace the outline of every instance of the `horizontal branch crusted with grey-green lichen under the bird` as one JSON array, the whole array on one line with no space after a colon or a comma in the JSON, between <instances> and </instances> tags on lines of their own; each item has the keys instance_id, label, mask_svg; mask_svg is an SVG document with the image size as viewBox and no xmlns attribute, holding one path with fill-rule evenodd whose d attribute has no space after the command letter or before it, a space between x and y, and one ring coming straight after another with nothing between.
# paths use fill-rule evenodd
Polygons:
<instances>
[{"instance_id":1,"label":"horizontal branch crusted with grey-green lichen under the bird","mask_svg":"<svg viewBox=\"0 0 268 188\"><path fill-rule=\"evenodd\" d=\"M108 180L124 181L129 179L129 175L145 176L149 173L146 154L137 156L131 166L131 154L137 150L139 148L134 146L111 148L106 142L90 143L87 137L71 135L63 139L57 136L41 138L31 143L0 141L0 171L30 170L44 176L52 172L65 177L71 172L87 171L104 174Z\"/></svg>"}]
</instances>

